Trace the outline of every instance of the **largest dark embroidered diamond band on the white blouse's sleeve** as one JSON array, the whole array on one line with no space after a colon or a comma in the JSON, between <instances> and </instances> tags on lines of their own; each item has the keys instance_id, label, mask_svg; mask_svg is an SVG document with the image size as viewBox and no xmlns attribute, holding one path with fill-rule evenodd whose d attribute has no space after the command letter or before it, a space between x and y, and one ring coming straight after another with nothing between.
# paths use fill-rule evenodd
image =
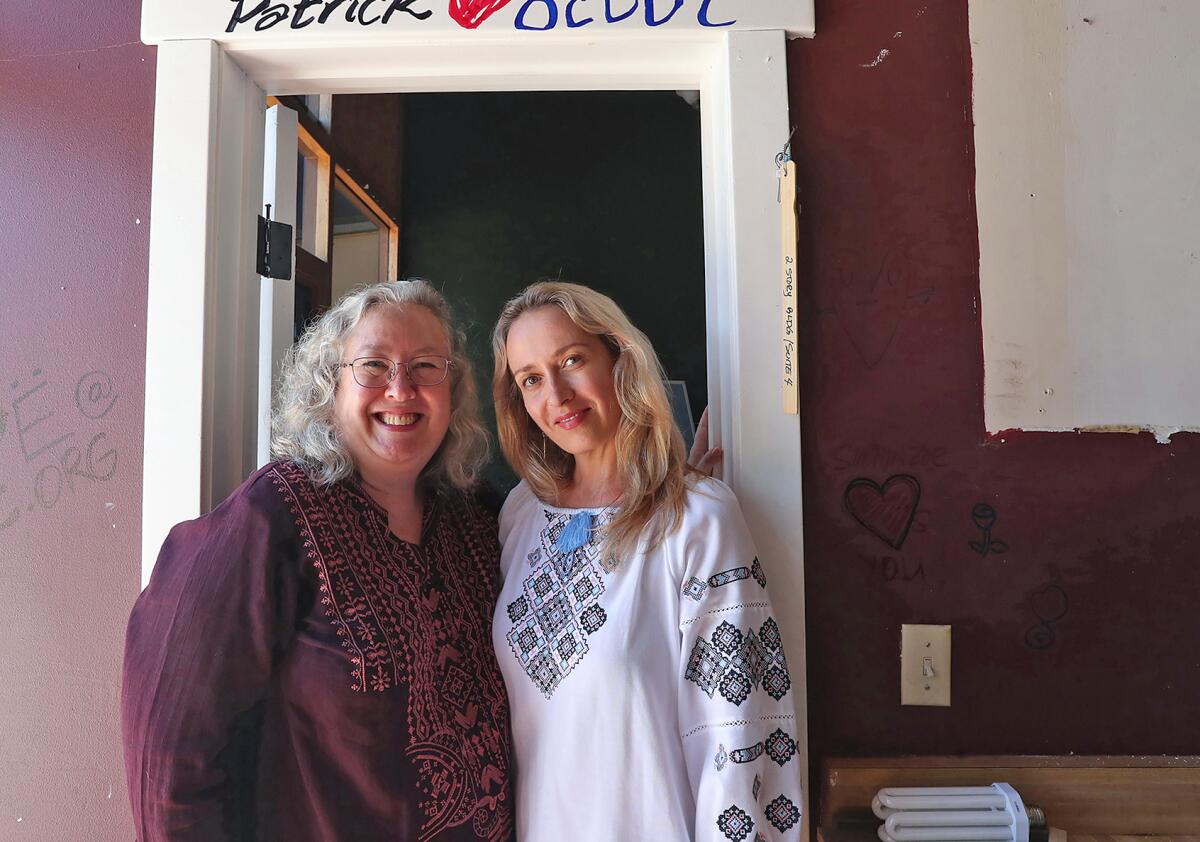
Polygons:
<instances>
[{"instance_id":1,"label":"largest dark embroidered diamond band on the white blouse's sleeve","mask_svg":"<svg viewBox=\"0 0 1200 842\"><path fill-rule=\"evenodd\" d=\"M720 691L726 702L739 706L758 687L779 702L792 687L779 625L768 617L755 633L722 620L708 639L696 638L684 678L708 698Z\"/></svg>"}]
</instances>

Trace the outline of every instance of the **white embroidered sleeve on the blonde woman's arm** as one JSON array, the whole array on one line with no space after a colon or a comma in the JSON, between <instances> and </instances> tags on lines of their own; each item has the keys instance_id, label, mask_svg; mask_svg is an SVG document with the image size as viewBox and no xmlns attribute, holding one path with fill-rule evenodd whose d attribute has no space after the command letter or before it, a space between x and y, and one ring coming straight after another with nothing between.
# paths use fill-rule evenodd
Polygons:
<instances>
[{"instance_id":1,"label":"white embroidered sleeve on the blonde woman's arm","mask_svg":"<svg viewBox=\"0 0 1200 842\"><path fill-rule=\"evenodd\" d=\"M766 572L732 492L701 488L710 499L689 506L680 587L679 733L694 838L799 840L798 726Z\"/></svg>"}]
</instances>

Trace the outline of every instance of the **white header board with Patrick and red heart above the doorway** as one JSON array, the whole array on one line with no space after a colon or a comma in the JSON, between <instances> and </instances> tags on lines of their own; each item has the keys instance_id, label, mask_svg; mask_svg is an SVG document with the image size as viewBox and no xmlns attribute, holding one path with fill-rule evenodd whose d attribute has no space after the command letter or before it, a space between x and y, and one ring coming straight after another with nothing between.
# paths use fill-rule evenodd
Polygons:
<instances>
[{"instance_id":1,"label":"white header board with Patrick and red heart above the doorway","mask_svg":"<svg viewBox=\"0 0 1200 842\"><path fill-rule=\"evenodd\" d=\"M143 0L142 40L263 47L546 34L598 36L785 30L812 34L812 0Z\"/></svg>"}]
</instances>

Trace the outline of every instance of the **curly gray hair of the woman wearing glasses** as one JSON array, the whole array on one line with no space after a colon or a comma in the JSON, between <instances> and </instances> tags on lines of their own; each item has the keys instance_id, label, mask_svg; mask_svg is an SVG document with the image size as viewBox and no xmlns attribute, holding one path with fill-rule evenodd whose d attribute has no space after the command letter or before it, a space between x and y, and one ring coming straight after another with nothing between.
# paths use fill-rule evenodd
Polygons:
<instances>
[{"instance_id":1,"label":"curly gray hair of the woman wearing glasses","mask_svg":"<svg viewBox=\"0 0 1200 842\"><path fill-rule=\"evenodd\" d=\"M346 337L374 307L419 305L432 312L450 342L450 428L421 471L431 485L470 488L487 462L487 431L479 420L475 378L466 337L455 327L450 307L427 281L414 278L361 287L346 295L305 330L283 360L271 414L271 456L300 465L318 486L353 476L354 459L334 426Z\"/></svg>"}]
</instances>

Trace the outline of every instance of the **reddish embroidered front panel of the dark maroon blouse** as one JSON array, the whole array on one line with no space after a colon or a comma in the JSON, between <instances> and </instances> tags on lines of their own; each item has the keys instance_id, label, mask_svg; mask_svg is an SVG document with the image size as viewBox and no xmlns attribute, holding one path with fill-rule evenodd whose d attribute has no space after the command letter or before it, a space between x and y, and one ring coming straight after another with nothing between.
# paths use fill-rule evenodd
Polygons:
<instances>
[{"instance_id":1,"label":"reddish embroidered front panel of the dark maroon blouse","mask_svg":"<svg viewBox=\"0 0 1200 842\"><path fill-rule=\"evenodd\" d=\"M499 558L494 531L466 503L419 549L391 541L386 523L352 492L316 488L295 465L271 471L317 571L320 602L350 661L350 690L407 686L409 745L425 799L420 842L470 824L506 840L508 697L492 651L490 615ZM364 540L365 539L365 540ZM434 559L430 564L428 559ZM452 570L438 570L446 564Z\"/></svg>"}]
</instances>

